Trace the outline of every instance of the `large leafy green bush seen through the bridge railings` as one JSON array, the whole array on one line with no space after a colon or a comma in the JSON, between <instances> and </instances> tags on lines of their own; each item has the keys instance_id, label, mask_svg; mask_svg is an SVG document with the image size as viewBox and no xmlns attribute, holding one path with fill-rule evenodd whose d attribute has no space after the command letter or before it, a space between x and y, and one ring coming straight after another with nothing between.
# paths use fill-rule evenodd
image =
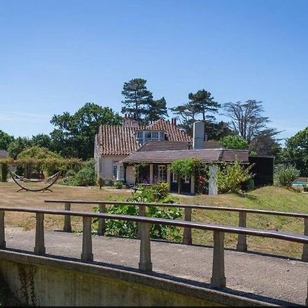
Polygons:
<instances>
[{"instance_id":1,"label":"large leafy green bush seen through the bridge railings","mask_svg":"<svg viewBox=\"0 0 308 308\"><path fill-rule=\"evenodd\" d=\"M123 201L123 200L120 200ZM157 183L151 186L138 186L136 192L132 192L132 196L127 198L128 202L156 202L156 203L173 203L172 196L168 193L167 183ZM98 207L94 208L98 211ZM135 205L113 205L107 209L109 214L125 214L138 215L138 206ZM147 207L146 216L153 218L177 219L182 217L182 212L176 207ZM98 221L93 222L94 232L97 231ZM106 220L105 235L109 236L125 236L136 238L138 232L138 223L125 220ZM181 240L181 229L173 226L163 226L160 224L151 224L151 238L162 240L173 240L179 242Z\"/></svg>"}]
</instances>

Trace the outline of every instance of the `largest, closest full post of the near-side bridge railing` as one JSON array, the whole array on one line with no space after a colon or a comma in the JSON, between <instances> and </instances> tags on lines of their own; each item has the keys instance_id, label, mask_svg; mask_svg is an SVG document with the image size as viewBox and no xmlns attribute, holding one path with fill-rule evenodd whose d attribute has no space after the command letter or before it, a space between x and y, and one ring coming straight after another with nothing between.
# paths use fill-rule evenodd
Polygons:
<instances>
[{"instance_id":1,"label":"largest, closest full post of the near-side bridge railing","mask_svg":"<svg viewBox=\"0 0 308 308\"><path fill-rule=\"evenodd\" d=\"M224 232L220 231L214 231L211 285L219 289L226 287L226 277L224 277Z\"/></svg>"}]
</instances>

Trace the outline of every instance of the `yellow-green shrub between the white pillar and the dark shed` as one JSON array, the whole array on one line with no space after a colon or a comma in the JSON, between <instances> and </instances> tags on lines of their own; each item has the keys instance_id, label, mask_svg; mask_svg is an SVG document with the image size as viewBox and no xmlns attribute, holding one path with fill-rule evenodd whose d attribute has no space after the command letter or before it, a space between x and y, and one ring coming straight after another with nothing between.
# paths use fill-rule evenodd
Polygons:
<instances>
[{"instance_id":1,"label":"yellow-green shrub between the white pillar and the dark shed","mask_svg":"<svg viewBox=\"0 0 308 308\"><path fill-rule=\"evenodd\" d=\"M234 164L222 164L218 169L218 192L239 192L242 183L253 177L251 168L253 164L245 168L238 159L235 159Z\"/></svg>"}]
</instances>

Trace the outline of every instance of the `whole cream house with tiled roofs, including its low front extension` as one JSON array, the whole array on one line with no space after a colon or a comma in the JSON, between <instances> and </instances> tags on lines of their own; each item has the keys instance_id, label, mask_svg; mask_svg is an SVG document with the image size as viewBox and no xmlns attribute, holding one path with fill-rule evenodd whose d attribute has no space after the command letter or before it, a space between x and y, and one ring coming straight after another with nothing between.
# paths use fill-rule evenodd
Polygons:
<instances>
[{"instance_id":1,"label":"whole cream house with tiled roofs, including its low front extension","mask_svg":"<svg viewBox=\"0 0 308 308\"><path fill-rule=\"evenodd\" d=\"M171 164L176 159L194 157L209 165L209 194L217 194L218 165L233 164L235 159L246 166L251 161L255 163L258 185L272 184L272 158L265 161L249 157L248 150L224 149L219 142L207 142L202 121L194 123L191 138L177 127L175 119L171 123L161 119L142 127L125 116L122 126L99 127L94 153L98 177L113 177L129 185L164 181L170 192L177 192L177 177L171 172ZM267 173L262 168L265 163L270 166ZM183 179L181 191L193 194L194 190L194 175Z\"/></svg>"}]
</instances>

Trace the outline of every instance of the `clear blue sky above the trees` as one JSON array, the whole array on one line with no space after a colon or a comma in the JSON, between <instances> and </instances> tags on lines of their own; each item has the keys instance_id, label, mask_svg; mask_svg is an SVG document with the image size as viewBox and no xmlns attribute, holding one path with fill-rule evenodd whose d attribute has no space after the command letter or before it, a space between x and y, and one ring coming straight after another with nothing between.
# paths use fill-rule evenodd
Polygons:
<instances>
[{"instance_id":1,"label":"clear blue sky above the trees","mask_svg":"<svg viewBox=\"0 0 308 308\"><path fill-rule=\"evenodd\" d=\"M263 101L288 138L308 125L307 16L306 0L0 0L0 129L49 133L86 102L120 112L141 77L168 107L203 88Z\"/></svg>"}]
</instances>

